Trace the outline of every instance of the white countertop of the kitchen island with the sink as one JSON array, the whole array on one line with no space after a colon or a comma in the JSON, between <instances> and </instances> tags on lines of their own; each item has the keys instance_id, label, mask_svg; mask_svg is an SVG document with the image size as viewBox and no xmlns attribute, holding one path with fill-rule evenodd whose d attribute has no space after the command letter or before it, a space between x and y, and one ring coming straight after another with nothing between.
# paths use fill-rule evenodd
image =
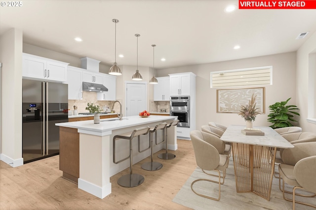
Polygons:
<instances>
[{"instance_id":1,"label":"white countertop of the kitchen island with the sink","mask_svg":"<svg viewBox=\"0 0 316 210\"><path fill-rule=\"evenodd\" d=\"M94 124L93 120L83 120L75 122L61 122L56 123L57 126L77 128L81 130L89 130L96 132L106 132L116 129L143 125L151 122L164 121L164 120L176 120L176 116L161 116L161 115L152 115L148 118L141 118L139 116L128 116L123 117L123 120L117 120L117 118L101 119L99 124Z\"/></svg>"}]
</instances>

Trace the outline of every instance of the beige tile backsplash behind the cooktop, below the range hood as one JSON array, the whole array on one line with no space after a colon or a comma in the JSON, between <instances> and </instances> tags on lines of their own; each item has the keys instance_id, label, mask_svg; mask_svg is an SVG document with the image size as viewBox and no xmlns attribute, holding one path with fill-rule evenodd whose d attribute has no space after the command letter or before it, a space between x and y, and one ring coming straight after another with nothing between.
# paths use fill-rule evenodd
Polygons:
<instances>
[{"instance_id":1,"label":"beige tile backsplash behind the cooktop, below the range hood","mask_svg":"<svg viewBox=\"0 0 316 210\"><path fill-rule=\"evenodd\" d=\"M122 103L122 100L118 100L118 101ZM85 107L87 106L87 103L93 103L95 105L99 105L103 110L103 106L108 106L111 109L114 101L98 101L97 92L82 91L82 100L68 100L68 109L70 109L71 111L74 111L74 106L77 106L78 113L88 112L88 110L85 109ZM118 103L115 104L114 110L116 112L119 112Z\"/></svg>"}]
</instances>

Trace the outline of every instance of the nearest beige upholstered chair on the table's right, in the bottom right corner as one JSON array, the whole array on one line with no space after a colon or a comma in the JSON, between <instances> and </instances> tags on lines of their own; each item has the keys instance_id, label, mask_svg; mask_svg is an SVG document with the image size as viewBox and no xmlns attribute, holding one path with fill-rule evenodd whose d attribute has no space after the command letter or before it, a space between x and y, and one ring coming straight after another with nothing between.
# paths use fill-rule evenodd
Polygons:
<instances>
[{"instance_id":1,"label":"nearest beige upholstered chair on the table's right, in the bottom right corner","mask_svg":"<svg viewBox=\"0 0 316 210\"><path fill-rule=\"evenodd\" d=\"M295 201L295 195L304 197L315 197L314 195L298 194L295 190L305 189L316 193L316 142L297 143L294 148L281 149L281 159L283 163L279 164L280 178L283 179L282 193L283 198L295 203L300 203L316 208L315 205ZM279 187L280 187L279 179ZM285 191L284 183L294 186L293 191ZM293 194L293 200L285 198L285 192Z\"/></svg>"}]
</instances>

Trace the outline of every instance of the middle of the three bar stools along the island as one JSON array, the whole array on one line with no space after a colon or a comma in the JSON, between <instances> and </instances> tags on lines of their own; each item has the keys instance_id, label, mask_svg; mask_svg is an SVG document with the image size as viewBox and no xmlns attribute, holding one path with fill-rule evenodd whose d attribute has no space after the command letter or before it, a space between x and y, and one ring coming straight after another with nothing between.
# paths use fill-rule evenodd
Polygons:
<instances>
[{"instance_id":1,"label":"middle of the three bar stools along the island","mask_svg":"<svg viewBox=\"0 0 316 210\"><path fill-rule=\"evenodd\" d=\"M149 130L149 140L151 142L151 161L147 162L147 163L143 163L141 165L142 169L145 169L147 171L157 171L157 170L162 168L162 164L161 163L153 161L153 153L154 153L153 133L155 132L156 145L157 145L158 144L157 143L157 130L162 129L163 130L163 135L162 135L163 141L160 142L159 144L163 143L165 141L164 140L164 130L165 130L166 126L167 126L167 123L166 122L162 122L162 123L157 124L155 127L151 127L150 128L150 130Z\"/></svg>"}]
</instances>

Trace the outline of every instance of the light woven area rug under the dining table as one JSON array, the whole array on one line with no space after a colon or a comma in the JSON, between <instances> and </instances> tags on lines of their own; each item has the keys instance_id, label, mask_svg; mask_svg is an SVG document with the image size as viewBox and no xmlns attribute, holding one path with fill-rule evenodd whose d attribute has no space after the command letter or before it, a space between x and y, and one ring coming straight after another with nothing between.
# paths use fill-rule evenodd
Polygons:
<instances>
[{"instance_id":1,"label":"light woven area rug under the dining table","mask_svg":"<svg viewBox=\"0 0 316 210\"><path fill-rule=\"evenodd\" d=\"M226 170L225 183L221 185L221 199L219 201L210 200L198 196L191 190L191 183L197 179L218 180L216 177L211 177L202 172L200 168L192 173L190 178L182 186L180 191L172 200L175 203L189 207L194 210L292 210L293 204L290 201L285 201L282 197L282 192L278 189L278 179L274 178L272 183L270 201L254 194L254 193L237 193L236 182L234 175L233 158L230 158L230 164ZM282 184L282 182L281 182ZM194 189L204 195L211 197L218 196L218 184L209 181L198 181L194 184ZM285 185L286 190L291 188ZM292 195L285 193L287 198ZM296 196L299 201L306 201L316 205L316 198L302 198ZM296 210L315 210L315 208L295 204Z\"/></svg>"}]
</instances>

